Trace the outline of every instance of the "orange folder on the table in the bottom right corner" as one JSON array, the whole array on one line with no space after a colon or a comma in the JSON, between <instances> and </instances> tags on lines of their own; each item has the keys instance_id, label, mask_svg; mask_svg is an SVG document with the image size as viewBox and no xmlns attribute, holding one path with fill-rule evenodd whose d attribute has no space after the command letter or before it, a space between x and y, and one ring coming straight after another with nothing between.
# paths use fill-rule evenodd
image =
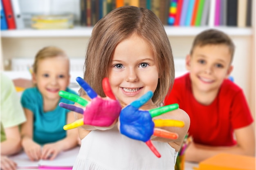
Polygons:
<instances>
[{"instance_id":1,"label":"orange folder on the table in the bottom right corner","mask_svg":"<svg viewBox=\"0 0 256 170\"><path fill-rule=\"evenodd\" d=\"M199 170L255 170L255 157L221 153L199 163Z\"/></svg>"}]
</instances>

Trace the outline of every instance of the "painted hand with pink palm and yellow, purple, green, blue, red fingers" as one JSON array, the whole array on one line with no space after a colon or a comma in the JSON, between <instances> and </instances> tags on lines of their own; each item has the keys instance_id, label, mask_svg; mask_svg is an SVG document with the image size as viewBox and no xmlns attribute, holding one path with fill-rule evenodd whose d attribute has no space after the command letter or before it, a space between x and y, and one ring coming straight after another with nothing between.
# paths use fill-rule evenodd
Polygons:
<instances>
[{"instance_id":1,"label":"painted hand with pink palm and yellow, purple, green, blue, red fingers","mask_svg":"<svg viewBox=\"0 0 256 170\"><path fill-rule=\"evenodd\" d=\"M59 104L63 108L83 114L83 119L76 120L72 124L67 124L63 128L68 130L84 124L99 127L111 126L119 117L121 105L112 93L108 78L104 78L102 81L103 91L107 96L104 99L97 95L97 93L81 77L77 77L76 81L92 100L89 102L77 95L60 91L59 95L61 97L83 106L83 108L80 108L65 103Z\"/></svg>"}]
</instances>

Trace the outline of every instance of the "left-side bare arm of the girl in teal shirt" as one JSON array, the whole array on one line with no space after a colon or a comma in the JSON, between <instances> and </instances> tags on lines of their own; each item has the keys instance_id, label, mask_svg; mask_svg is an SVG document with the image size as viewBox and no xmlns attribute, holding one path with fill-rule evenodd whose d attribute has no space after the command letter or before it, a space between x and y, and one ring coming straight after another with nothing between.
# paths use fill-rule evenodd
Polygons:
<instances>
[{"instance_id":1,"label":"left-side bare arm of the girl in teal shirt","mask_svg":"<svg viewBox=\"0 0 256 170\"><path fill-rule=\"evenodd\" d=\"M33 141L33 117L31 110L24 108L27 121L21 125L21 145L31 161L41 158L41 146Z\"/></svg>"}]
</instances>

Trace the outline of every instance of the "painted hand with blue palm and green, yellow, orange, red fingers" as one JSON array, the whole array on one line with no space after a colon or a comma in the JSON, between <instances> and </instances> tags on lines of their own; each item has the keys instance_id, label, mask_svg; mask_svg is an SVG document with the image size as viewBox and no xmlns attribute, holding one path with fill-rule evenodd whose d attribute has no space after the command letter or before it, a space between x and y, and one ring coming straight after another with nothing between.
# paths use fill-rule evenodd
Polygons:
<instances>
[{"instance_id":1,"label":"painted hand with blue palm and green, yellow, orange, red fingers","mask_svg":"<svg viewBox=\"0 0 256 170\"><path fill-rule=\"evenodd\" d=\"M121 110L119 118L120 132L121 134L126 135L132 139L144 141L157 157L161 157L159 152L151 143L150 137L155 135L158 137L177 139L178 135L173 132L166 132L166 130L161 129L156 130L154 128L162 126L183 127L184 122L178 120L163 119L152 120L153 117L179 108L178 104L171 104L151 110L139 110L139 108L148 102L152 96L153 92L148 91L148 93Z\"/></svg>"}]
</instances>

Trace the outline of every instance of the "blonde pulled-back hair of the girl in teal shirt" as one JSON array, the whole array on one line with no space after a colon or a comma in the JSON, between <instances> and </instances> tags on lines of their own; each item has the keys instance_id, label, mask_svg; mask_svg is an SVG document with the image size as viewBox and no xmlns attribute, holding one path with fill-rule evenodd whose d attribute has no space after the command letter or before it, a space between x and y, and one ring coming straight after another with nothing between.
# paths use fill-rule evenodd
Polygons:
<instances>
[{"instance_id":1,"label":"blonde pulled-back hair of the girl in teal shirt","mask_svg":"<svg viewBox=\"0 0 256 170\"><path fill-rule=\"evenodd\" d=\"M44 60L46 58L57 57L57 56L62 56L64 58L68 58L66 53L62 49L59 49L56 46L46 46L46 47L44 47L43 49L38 51L37 54L36 54L34 64L33 64L33 72L34 73L37 72L38 63L39 63L40 60Z\"/></svg>"}]
</instances>

